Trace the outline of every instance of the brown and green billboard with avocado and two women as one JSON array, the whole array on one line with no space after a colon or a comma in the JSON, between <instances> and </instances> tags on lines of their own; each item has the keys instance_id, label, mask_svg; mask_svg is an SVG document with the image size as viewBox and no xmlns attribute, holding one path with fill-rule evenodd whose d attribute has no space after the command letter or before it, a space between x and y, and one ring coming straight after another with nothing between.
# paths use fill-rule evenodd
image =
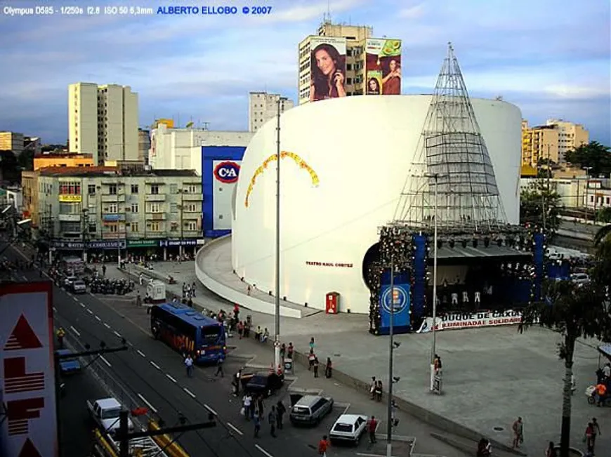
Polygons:
<instances>
[{"instance_id":1,"label":"brown and green billboard with avocado and two women","mask_svg":"<svg viewBox=\"0 0 611 457\"><path fill-rule=\"evenodd\" d=\"M401 95L401 40L365 41L365 95Z\"/></svg>"}]
</instances>

